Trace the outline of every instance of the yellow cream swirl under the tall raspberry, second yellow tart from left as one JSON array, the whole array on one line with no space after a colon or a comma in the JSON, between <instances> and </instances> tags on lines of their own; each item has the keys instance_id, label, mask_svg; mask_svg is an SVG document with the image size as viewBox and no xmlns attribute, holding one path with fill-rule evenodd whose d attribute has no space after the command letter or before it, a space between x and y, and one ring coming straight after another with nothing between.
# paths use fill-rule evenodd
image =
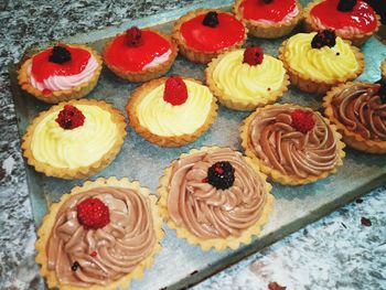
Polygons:
<instances>
[{"instance_id":1,"label":"yellow cream swirl under the tall raspberry, second yellow tart from left","mask_svg":"<svg viewBox=\"0 0 386 290\"><path fill-rule=\"evenodd\" d=\"M213 95L204 85L189 79L184 79L184 83L187 99L180 106L163 99L164 84L147 94L137 108L140 125L164 137L193 133L202 127L210 115Z\"/></svg>"}]
</instances>

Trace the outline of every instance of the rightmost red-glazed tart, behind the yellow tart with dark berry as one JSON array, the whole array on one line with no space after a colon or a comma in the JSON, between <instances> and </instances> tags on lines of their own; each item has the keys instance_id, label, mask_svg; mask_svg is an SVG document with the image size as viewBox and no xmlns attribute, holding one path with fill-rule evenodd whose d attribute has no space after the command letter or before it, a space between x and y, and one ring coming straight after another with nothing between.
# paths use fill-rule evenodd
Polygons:
<instances>
[{"instance_id":1,"label":"rightmost red-glazed tart, behind the yellow tart with dark berry","mask_svg":"<svg viewBox=\"0 0 386 290\"><path fill-rule=\"evenodd\" d=\"M307 31L335 30L336 35L362 45L379 28L380 17L362 0L317 0L304 9Z\"/></svg>"}]
</instances>

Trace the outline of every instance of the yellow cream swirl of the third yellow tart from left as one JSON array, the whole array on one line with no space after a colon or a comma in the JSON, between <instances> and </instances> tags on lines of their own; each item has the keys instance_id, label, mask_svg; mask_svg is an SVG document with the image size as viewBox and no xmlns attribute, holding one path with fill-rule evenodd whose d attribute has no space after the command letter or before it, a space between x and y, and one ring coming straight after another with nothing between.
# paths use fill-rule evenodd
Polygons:
<instances>
[{"instance_id":1,"label":"yellow cream swirl of the third yellow tart from left","mask_svg":"<svg viewBox=\"0 0 386 290\"><path fill-rule=\"evenodd\" d=\"M261 64L243 63L245 50L226 53L213 69L216 87L233 100L258 103L281 89L286 69L281 61L265 54Z\"/></svg>"}]
</instances>

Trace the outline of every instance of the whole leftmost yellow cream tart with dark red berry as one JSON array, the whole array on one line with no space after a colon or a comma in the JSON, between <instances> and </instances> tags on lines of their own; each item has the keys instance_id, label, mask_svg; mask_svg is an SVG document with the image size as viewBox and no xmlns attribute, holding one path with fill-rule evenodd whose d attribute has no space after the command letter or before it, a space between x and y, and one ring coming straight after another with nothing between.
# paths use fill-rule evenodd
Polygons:
<instances>
[{"instance_id":1,"label":"whole leftmost yellow cream tart with dark red berry","mask_svg":"<svg viewBox=\"0 0 386 290\"><path fill-rule=\"evenodd\" d=\"M28 163L47 176L90 176L118 154L126 136L124 116L95 99L61 103L42 111L22 138Z\"/></svg>"}]
</instances>

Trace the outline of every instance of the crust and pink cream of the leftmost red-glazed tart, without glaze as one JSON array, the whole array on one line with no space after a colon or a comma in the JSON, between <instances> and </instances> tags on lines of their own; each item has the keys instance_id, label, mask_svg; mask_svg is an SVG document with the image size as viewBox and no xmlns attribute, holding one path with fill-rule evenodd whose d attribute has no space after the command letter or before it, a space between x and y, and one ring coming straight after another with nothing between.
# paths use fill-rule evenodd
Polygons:
<instances>
[{"instance_id":1,"label":"crust and pink cream of the leftmost red-glazed tart, without glaze","mask_svg":"<svg viewBox=\"0 0 386 290\"><path fill-rule=\"evenodd\" d=\"M66 44L66 46L89 53L89 60L82 72L75 75L61 75L60 73L40 83L32 73L33 58L41 53L39 52L22 63L18 72L20 86L35 98L49 104L79 99L88 95L99 79L101 58L96 51L86 45Z\"/></svg>"}]
</instances>

